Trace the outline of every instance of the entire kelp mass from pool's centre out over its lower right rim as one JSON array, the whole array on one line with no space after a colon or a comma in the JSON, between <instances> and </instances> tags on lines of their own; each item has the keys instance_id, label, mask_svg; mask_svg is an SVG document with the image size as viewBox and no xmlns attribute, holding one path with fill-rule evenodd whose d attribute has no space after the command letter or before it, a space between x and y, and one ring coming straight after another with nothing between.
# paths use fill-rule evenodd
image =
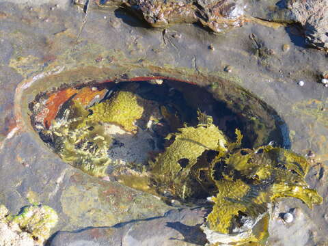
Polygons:
<instances>
[{"instance_id":1,"label":"entire kelp mass from pool's centre out over its lower right rim","mask_svg":"<svg viewBox=\"0 0 328 246\"><path fill-rule=\"evenodd\" d=\"M178 131L167 136L174 136L174 141L151 164L151 173L161 191L180 200L195 195L197 186L204 189L212 182L216 189L207 192L213 194L214 206L203 226L210 243L264 242L269 208L277 197L296 197L310 208L323 201L308 188L304 178L310 166L298 154L270 145L238 149L241 133L236 130L236 142L228 143L210 118L208 124ZM205 150L217 153L207 166L202 156ZM207 177L201 179L200 172Z\"/></svg>"}]
</instances>

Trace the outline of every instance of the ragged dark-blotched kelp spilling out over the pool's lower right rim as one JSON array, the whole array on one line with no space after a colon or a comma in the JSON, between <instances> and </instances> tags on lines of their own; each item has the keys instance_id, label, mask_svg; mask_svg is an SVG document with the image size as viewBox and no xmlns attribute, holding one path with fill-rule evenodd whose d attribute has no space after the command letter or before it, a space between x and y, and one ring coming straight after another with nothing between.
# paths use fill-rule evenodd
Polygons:
<instances>
[{"instance_id":1,"label":"ragged dark-blotched kelp spilling out over the pool's lower right rim","mask_svg":"<svg viewBox=\"0 0 328 246\"><path fill-rule=\"evenodd\" d=\"M296 197L309 207L323 200L304 180L309 163L288 150L272 146L243 149L215 159L215 162L224 168L214 174L218 193L212 197L214 206L206 226L219 234L233 235L250 230L236 225L241 221L255 225L259 217L268 213L269 204L277 197ZM219 234L215 243L223 243ZM239 243L242 242L240 239ZM253 233L245 237L246 241L253 242L261 239Z\"/></svg>"}]
</instances>

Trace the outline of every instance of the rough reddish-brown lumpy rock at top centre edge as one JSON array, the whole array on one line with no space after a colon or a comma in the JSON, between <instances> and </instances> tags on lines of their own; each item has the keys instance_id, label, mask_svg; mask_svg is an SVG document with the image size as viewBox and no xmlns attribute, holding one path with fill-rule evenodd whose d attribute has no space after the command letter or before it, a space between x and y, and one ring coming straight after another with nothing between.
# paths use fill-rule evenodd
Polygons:
<instances>
[{"instance_id":1,"label":"rough reddish-brown lumpy rock at top centre edge","mask_svg":"<svg viewBox=\"0 0 328 246\"><path fill-rule=\"evenodd\" d=\"M221 32L240 27L244 21L242 1L115 0L102 1L101 5L124 5L152 27L200 22L212 31Z\"/></svg>"}]
</instances>

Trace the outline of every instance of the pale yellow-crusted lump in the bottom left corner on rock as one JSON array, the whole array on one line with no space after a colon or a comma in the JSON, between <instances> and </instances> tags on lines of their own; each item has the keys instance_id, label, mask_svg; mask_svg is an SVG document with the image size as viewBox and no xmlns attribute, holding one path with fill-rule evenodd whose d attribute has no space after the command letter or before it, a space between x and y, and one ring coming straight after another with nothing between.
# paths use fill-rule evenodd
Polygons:
<instances>
[{"instance_id":1,"label":"pale yellow-crusted lump in the bottom left corner on rock","mask_svg":"<svg viewBox=\"0 0 328 246\"><path fill-rule=\"evenodd\" d=\"M25 206L18 215L10 215L0 205L0 245L43 245L57 221L57 213L49 206Z\"/></svg>"}]
</instances>

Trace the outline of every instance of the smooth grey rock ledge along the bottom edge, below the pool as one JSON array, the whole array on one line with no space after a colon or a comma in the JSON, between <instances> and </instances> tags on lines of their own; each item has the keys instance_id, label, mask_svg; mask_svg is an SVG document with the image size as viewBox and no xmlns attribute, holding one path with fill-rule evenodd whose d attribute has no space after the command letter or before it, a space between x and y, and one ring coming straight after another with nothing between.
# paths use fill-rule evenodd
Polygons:
<instances>
[{"instance_id":1,"label":"smooth grey rock ledge along the bottom edge, below the pool","mask_svg":"<svg viewBox=\"0 0 328 246\"><path fill-rule=\"evenodd\" d=\"M87 228L79 232L58 232L51 246L73 245L204 245L200 230L205 210L171 210L163 217L120 223L107 228Z\"/></svg>"}]
</instances>

